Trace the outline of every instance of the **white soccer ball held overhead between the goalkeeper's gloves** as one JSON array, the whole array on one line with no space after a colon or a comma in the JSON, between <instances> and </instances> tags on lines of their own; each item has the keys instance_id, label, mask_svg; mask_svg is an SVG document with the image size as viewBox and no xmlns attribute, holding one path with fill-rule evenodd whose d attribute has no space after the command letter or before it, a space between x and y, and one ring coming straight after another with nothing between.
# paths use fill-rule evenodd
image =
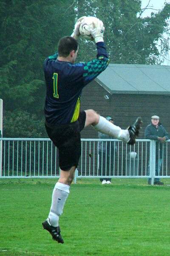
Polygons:
<instances>
[{"instance_id":1,"label":"white soccer ball held overhead between the goalkeeper's gloves","mask_svg":"<svg viewBox=\"0 0 170 256\"><path fill-rule=\"evenodd\" d=\"M94 23L97 23L98 21L99 19L93 16L88 16L82 19L79 27L80 35L86 40L94 40L90 29L94 29Z\"/></svg>"}]
</instances>

